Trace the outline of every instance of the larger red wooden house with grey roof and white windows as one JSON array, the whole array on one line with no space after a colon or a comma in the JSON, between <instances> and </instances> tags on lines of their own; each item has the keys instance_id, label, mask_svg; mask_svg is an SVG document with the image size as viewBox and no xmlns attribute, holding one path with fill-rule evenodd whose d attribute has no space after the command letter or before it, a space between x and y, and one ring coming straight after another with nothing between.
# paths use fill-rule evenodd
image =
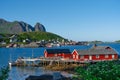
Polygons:
<instances>
[{"instance_id":1,"label":"larger red wooden house with grey roof and white windows","mask_svg":"<svg viewBox=\"0 0 120 80\"><path fill-rule=\"evenodd\" d=\"M117 52L108 46L94 46L88 50L74 50L72 53L74 60L79 61L104 61L117 60Z\"/></svg>"}]
</instances>

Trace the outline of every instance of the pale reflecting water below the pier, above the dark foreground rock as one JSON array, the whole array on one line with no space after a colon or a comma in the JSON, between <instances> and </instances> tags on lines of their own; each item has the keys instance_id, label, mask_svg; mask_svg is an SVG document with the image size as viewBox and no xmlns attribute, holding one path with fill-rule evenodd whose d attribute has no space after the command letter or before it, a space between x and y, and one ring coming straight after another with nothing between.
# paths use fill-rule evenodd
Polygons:
<instances>
[{"instance_id":1,"label":"pale reflecting water below the pier, above the dark foreground rock","mask_svg":"<svg viewBox=\"0 0 120 80\"><path fill-rule=\"evenodd\" d=\"M42 67L12 67L8 80L25 80L29 75L41 75L47 72Z\"/></svg>"}]
</instances>

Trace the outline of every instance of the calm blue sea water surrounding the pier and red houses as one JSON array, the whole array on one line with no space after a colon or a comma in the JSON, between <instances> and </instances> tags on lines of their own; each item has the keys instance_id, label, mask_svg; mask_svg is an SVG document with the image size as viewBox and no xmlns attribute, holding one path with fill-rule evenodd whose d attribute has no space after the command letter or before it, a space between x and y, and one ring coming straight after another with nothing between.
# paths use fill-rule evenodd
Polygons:
<instances>
[{"instance_id":1,"label":"calm blue sea water surrounding the pier and red houses","mask_svg":"<svg viewBox=\"0 0 120 80\"><path fill-rule=\"evenodd\" d=\"M120 44L99 44L105 46L111 46L118 54L120 53ZM71 51L74 49L89 49L90 46L62 46L56 48L69 48ZM45 48L0 48L0 67L7 66L10 56L12 61L15 61L18 57L34 57L43 56ZM8 80L24 80L29 75L41 75L46 72L41 67L12 67L9 72Z\"/></svg>"}]
</instances>

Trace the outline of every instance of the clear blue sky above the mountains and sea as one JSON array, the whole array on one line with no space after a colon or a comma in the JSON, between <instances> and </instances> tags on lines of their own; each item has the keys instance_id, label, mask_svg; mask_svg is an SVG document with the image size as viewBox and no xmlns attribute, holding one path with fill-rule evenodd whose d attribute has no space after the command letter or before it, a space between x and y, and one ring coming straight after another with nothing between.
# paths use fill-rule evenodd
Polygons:
<instances>
[{"instance_id":1,"label":"clear blue sky above the mountains and sea","mask_svg":"<svg viewBox=\"0 0 120 80\"><path fill-rule=\"evenodd\" d=\"M120 0L0 0L0 18L75 41L120 40Z\"/></svg>"}]
</instances>

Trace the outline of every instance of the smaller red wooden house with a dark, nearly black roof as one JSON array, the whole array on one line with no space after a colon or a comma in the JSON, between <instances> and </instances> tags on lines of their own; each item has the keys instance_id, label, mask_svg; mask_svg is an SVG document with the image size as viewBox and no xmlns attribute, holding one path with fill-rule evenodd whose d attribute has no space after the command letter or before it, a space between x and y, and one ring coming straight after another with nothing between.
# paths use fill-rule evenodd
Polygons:
<instances>
[{"instance_id":1,"label":"smaller red wooden house with a dark, nearly black roof","mask_svg":"<svg viewBox=\"0 0 120 80\"><path fill-rule=\"evenodd\" d=\"M44 57L61 57L63 59L71 59L72 55L69 49L46 49Z\"/></svg>"}]
</instances>

